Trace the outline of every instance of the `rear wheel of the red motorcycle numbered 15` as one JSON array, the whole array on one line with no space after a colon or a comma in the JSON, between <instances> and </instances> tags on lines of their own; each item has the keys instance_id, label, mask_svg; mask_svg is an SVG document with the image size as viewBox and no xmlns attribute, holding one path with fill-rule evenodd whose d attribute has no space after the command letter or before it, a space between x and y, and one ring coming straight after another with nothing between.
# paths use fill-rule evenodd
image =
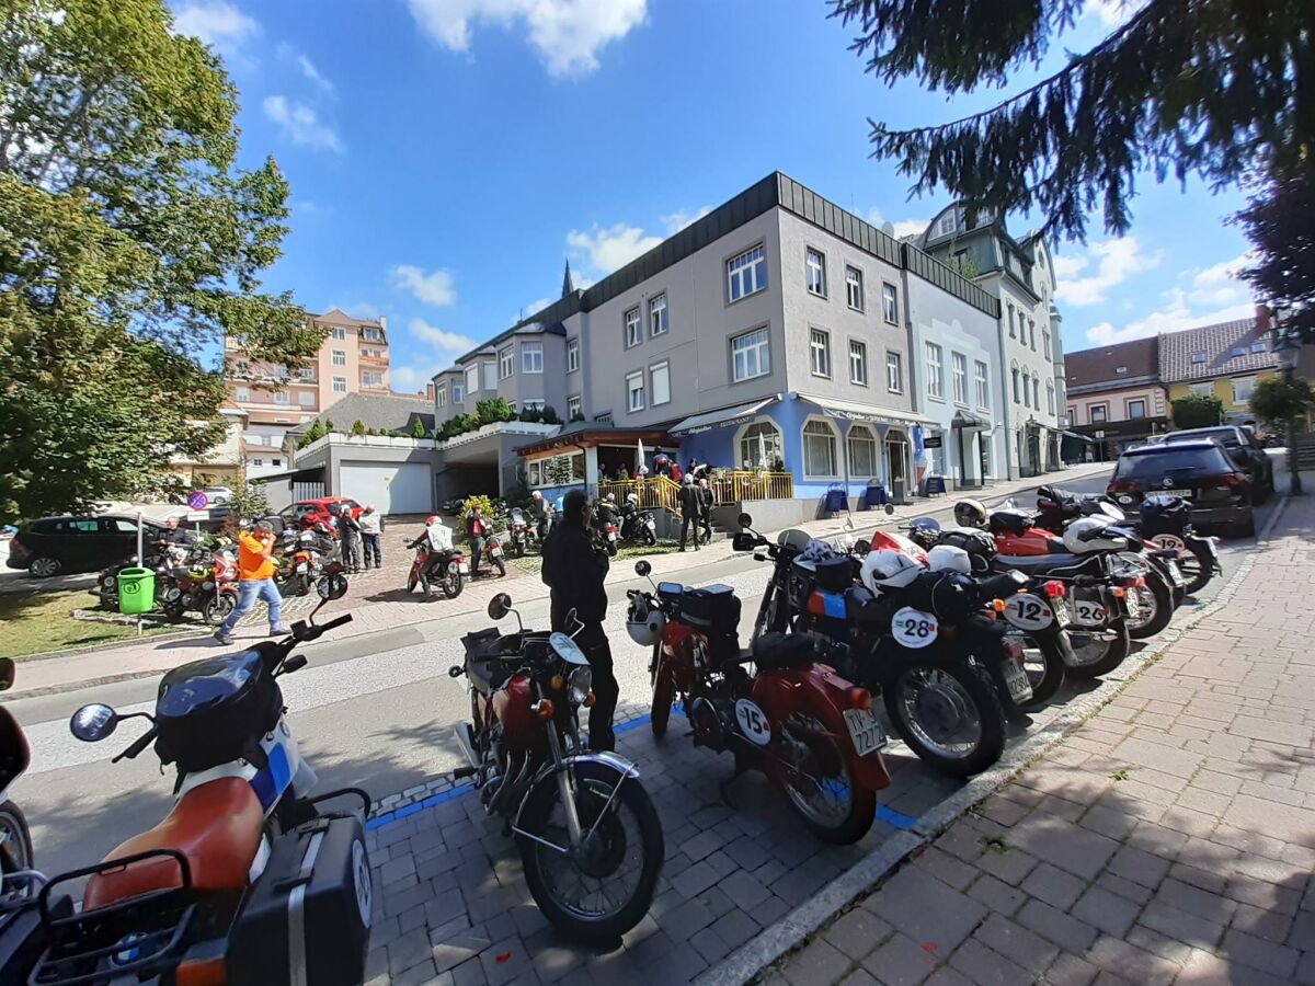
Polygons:
<instances>
[{"instance_id":1,"label":"rear wheel of the red motorcycle numbered 15","mask_svg":"<svg viewBox=\"0 0 1315 986\"><path fill-rule=\"evenodd\" d=\"M877 814L877 794L853 784L844 751L821 722L796 713L775 744L780 749L781 790L813 835L835 845L867 835Z\"/></svg>"}]
</instances>

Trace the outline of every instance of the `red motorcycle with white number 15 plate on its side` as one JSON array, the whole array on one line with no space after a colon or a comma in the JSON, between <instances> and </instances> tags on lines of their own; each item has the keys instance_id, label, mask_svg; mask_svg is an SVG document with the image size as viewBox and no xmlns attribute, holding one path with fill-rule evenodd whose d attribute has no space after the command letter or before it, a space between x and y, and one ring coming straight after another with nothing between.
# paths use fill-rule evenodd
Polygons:
<instances>
[{"instance_id":1,"label":"red motorcycle with white number 15 plate on its side","mask_svg":"<svg viewBox=\"0 0 1315 986\"><path fill-rule=\"evenodd\" d=\"M635 563L638 575L651 571L647 561ZM890 774L872 693L830 667L844 646L819 634L768 632L743 652L740 601L730 588L659 582L654 589L627 593L630 636L654 653L654 735L665 735L679 695L696 745L731 749L736 773L765 773L823 841L861 839Z\"/></svg>"}]
</instances>

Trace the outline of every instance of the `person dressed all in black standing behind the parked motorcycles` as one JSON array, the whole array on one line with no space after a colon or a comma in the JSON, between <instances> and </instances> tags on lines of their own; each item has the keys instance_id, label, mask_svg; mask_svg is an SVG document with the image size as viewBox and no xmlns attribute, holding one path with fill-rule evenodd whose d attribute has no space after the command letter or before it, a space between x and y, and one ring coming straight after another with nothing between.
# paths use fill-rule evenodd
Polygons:
<instances>
[{"instance_id":1,"label":"person dressed all in black standing behind the parked motorcycles","mask_svg":"<svg viewBox=\"0 0 1315 986\"><path fill-rule=\"evenodd\" d=\"M608 575L608 552L594 542L589 526L589 497L573 489L562 504L562 522L543 542L543 584L552 601L552 628L569 634L575 626L567 617L584 624L575 642L593 668L593 709L589 710L589 748L614 749L611 716L617 711L621 686L611 670L611 647L602 630L608 615L608 593L602 580Z\"/></svg>"}]
</instances>

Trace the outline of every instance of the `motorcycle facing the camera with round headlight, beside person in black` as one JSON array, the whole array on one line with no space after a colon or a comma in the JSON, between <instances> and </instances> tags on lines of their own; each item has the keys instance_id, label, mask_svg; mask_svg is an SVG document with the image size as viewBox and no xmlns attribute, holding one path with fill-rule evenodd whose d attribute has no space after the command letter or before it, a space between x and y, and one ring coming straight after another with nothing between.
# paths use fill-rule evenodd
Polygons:
<instances>
[{"instance_id":1,"label":"motorcycle facing the camera with round headlight, beside person in black","mask_svg":"<svg viewBox=\"0 0 1315 986\"><path fill-rule=\"evenodd\" d=\"M471 722L456 727L469 765L455 777L473 777L485 811L506 819L548 922L610 945L652 903L665 857L661 823L634 764L580 741L593 672L575 640L526 630L512 597L498 593L489 619L508 614L517 632L467 634L466 660L448 672L464 676L471 694Z\"/></svg>"}]
</instances>

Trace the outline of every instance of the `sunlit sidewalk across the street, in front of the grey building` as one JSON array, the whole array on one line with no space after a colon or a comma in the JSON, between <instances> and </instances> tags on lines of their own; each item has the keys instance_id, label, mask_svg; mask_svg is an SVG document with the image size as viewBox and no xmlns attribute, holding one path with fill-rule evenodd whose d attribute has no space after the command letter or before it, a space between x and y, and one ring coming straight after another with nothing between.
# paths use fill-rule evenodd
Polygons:
<instances>
[{"instance_id":1,"label":"sunlit sidewalk across the street, in front of the grey building","mask_svg":"<svg viewBox=\"0 0 1315 986\"><path fill-rule=\"evenodd\" d=\"M1107 472L1110 468L1109 463L1086 463L1040 477L998 482L982 490L973 490L972 494L989 502L995 502L1001 498L1014 496L1020 490L1032 489L1043 482L1070 484L1088 476ZM896 507L896 511L889 515L877 510L856 511L853 514L855 531L861 534L874 527L896 527L907 523L915 517L928 514L945 517L957 498L955 494L935 497L932 500L919 498L909 506ZM846 521L847 517L842 514L835 519L810 521L801 525L801 527L814 536L827 538L843 531ZM389 531L389 534L393 532L392 530ZM764 531L764 534L773 532ZM391 543L385 557L393 560L397 555L398 550ZM656 578L672 572L688 572L717 561L725 561L732 555L730 540L714 542L700 551L654 555L651 559L652 575ZM377 576L373 572L368 576L354 576L347 596L329 603L323 611L326 615L347 611L352 614L352 622L334 632L335 640L343 640L380 630L393 630L396 627L446 619L467 613L483 613L488 607L489 599L500 592L513 593L517 602L547 598L548 589L540 578L525 575L513 578L510 573L518 573L519 569L510 563L508 569L509 577L505 580L492 578L467 584L464 592L456 599L425 599L419 594L405 592L401 581L404 580L404 569L397 569L394 581L385 582L381 577L391 575L385 568ZM626 582L634 577L634 563L625 561L613 565L608 576L608 582ZM697 573L685 576L685 581L698 581ZM300 603L293 606L293 611L289 615L296 617L296 610L300 609ZM234 636L239 640L260 639L266 632L264 617L262 614L263 609L258 607L254 619L249 621L245 626L239 626ZM109 647L85 653L25 660L16 686L9 694L21 697L34 692L66 690L89 681L155 674L184 661L196 660L204 655L205 649L206 638L195 636L184 640L146 640L141 644Z\"/></svg>"}]
</instances>

